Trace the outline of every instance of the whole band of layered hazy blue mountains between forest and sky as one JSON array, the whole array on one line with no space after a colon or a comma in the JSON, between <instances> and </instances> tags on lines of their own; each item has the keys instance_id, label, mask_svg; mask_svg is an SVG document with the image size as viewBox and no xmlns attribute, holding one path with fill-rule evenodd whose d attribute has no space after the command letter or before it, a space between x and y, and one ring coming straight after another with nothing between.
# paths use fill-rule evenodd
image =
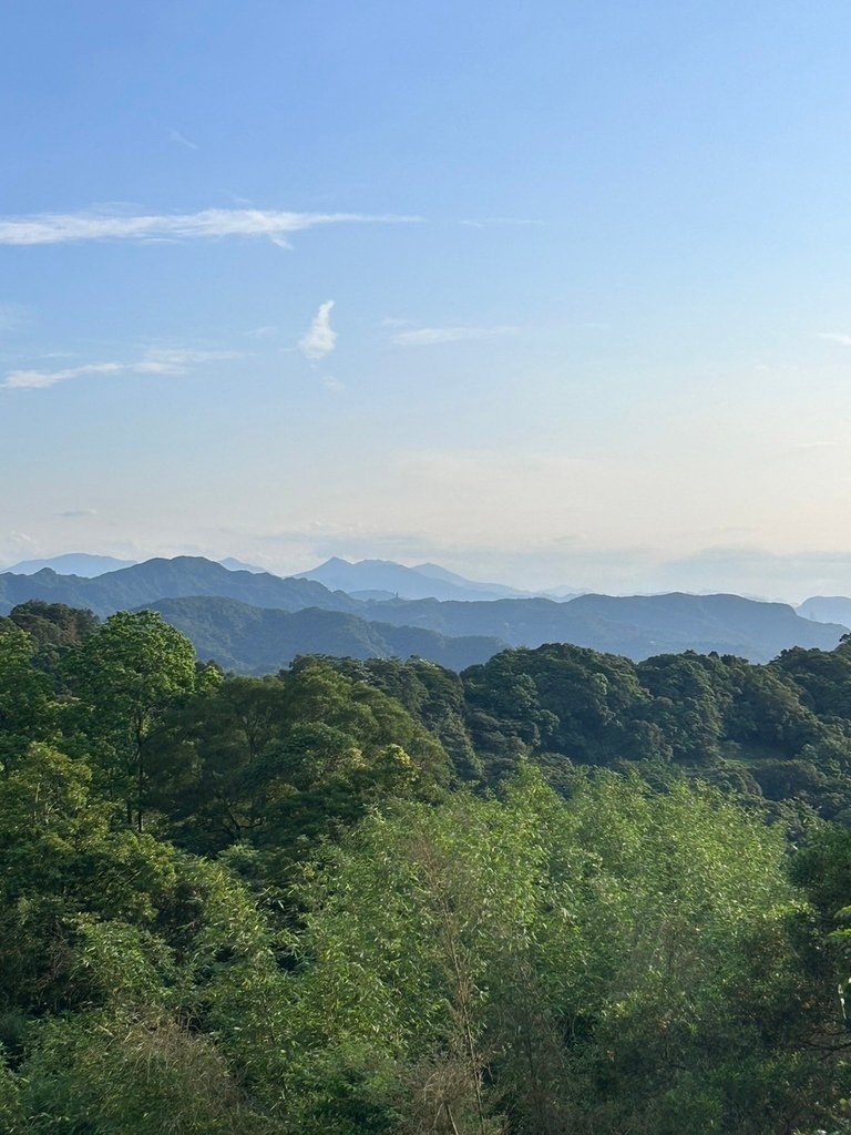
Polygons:
<instances>
[{"instance_id":1,"label":"whole band of layered hazy blue mountains between forest and sky","mask_svg":"<svg viewBox=\"0 0 851 1135\"><path fill-rule=\"evenodd\" d=\"M388 598L386 589L359 587L403 581L414 589L428 571L447 588L444 594L460 591L464 598L404 598L398 587ZM317 573L328 585L345 582L353 591L305 575L284 579L250 568L229 570L200 556L149 560L94 578L50 568L33 574L6 572L0 574L0 614L27 599L87 607L101 616L153 607L192 639L201 656L247 673L277 670L296 654L315 653L357 658L415 654L463 669L506 646L545 642L572 642L635 661L715 650L766 662L792 646L833 649L846 633L845 619L851 622L851 599L841 598L810 599L798 613L787 604L735 595L556 600L495 591L482 599L478 595L487 585L433 564L408 569L387 561L329 561ZM842 603L846 606L835 606ZM810 611L816 620L803 617ZM833 611L848 615L828 621Z\"/></svg>"}]
</instances>

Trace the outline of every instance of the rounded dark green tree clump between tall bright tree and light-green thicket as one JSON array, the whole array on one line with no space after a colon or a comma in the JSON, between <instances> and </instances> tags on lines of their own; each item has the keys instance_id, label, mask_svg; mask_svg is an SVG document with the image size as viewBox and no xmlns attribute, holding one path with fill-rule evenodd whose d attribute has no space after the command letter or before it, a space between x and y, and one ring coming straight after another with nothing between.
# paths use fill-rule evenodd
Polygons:
<instances>
[{"instance_id":1,"label":"rounded dark green tree clump between tall bright tree and light-green thicket","mask_svg":"<svg viewBox=\"0 0 851 1135\"><path fill-rule=\"evenodd\" d=\"M276 873L370 804L433 793L449 771L397 701L323 659L277 679L230 679L169 715L152 741L153 799L172 836L204 851L251 842Z\"/></svg>"}]
</instances>

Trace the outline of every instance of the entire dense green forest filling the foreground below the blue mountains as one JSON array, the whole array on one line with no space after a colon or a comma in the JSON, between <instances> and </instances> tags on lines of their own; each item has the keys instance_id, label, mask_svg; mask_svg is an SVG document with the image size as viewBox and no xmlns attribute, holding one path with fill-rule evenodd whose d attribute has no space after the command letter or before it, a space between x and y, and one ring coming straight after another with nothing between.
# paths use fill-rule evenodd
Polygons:
<instances>
[{"instance_id":1,"label":"entire dense green forest filling the foreground below the blue mountains","mask_svg":"<svg viewBox=\"0 0 851 1135\"><path fill-rule=\"evenodd\" d=\"M844 1129L850 741L848 642L252 679L24 604L0 1129Z\"/></svg>"}]
</instances>

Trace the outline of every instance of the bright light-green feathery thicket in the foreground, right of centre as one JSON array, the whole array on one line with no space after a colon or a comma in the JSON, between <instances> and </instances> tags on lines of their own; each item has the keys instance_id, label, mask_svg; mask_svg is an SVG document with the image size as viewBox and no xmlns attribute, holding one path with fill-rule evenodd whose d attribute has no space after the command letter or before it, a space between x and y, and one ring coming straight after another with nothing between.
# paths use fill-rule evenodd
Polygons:
<instances>
[{"instance_id":1,"label":"bright light-green feathery thicket in the foreground, right of centre","mask_svg":"<svg viewBox=\"0 0 851 1135\"><path fill-rule=\"evenodd\" d=\"M373 816L306 883L300 1048L369 1051L402 1129L774 1129L819 1078L782 860L711 792L617 777ZM293 1091L300 1129L355 1129Z\"/></svg>"}]
</instances>

